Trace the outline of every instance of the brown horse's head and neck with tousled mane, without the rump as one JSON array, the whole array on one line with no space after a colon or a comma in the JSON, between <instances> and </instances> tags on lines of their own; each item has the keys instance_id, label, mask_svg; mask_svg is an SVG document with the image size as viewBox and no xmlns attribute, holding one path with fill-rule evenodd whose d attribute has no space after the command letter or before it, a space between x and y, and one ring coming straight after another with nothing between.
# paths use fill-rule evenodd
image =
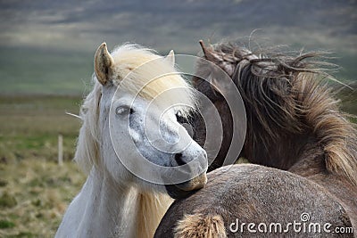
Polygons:
<instances>
[{"instance_id":1,"label":"brown horse's head and neck with tousled mane, without the rump","mask_svg":"<svg viewBox=\"0 0 357 238\"><path fill-rule=\"evenodd\" d=\"M339 111L331 88L319 79L326 75L316 70L319 63L306 60L319 53L261 57L225 44L203 47L203 52L208 61L228 73L245 103L247 131L241 156L285 170L310 160L322 173L345 177L357 185L357 131ZM223 95L214 89L222 79L219 70L205 62L197 69L197 75L212 78L213 86L202 78L194 78L194 86L211 99L222 119L223 142L214 169L225 160L226 145L237 144L230 141L236 128L227 103L220 103Z\"/></svg>"}]
</instances>

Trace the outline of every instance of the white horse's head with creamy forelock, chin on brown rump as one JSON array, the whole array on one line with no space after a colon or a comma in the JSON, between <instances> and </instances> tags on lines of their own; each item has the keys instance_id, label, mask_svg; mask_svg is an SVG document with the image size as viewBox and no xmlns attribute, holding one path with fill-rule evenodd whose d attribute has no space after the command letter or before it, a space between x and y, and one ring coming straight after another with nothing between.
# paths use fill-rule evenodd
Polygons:
<instances>
[{"instance_id":1,"label":"white horse's head with creamy forelock, chin on brown rump","mask_svg":"<svg viewBox=\"0 0 357 238\"><path fill-rule=\"evenodd\" d=\"M195 97L174 68L137 45L95 53L95 87L83 104L76 160L120 184L187 195L206 183L207 156L177 121Z\"/></svg>"}]
</instances>

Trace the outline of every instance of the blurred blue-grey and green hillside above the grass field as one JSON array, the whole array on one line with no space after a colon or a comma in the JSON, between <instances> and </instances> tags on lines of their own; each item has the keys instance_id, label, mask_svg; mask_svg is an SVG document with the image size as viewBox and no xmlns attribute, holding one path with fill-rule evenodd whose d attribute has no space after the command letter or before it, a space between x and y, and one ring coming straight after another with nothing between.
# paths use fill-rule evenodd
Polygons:
<instances>
[{"instance_id":1,"label":"blurred blue-grey and green hillside above the grass field","mask_svg":"<svg viewBox=\"0 0 357 238\"><path fill-rule=\"evenodd\" d=\"M197 54L199 39L329 50L357 75L356 0L0 1L0 94L83 94L95 48L125 42ZM253 43L254 46L254 43Z\"/></svg>"}]
</instances>

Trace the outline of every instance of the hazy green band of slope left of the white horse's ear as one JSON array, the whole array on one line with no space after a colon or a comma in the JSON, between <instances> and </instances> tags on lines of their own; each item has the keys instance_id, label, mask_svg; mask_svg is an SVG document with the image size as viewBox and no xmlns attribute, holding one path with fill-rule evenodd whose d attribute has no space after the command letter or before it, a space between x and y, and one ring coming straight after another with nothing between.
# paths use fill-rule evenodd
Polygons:
<instances>
[{"instance_id":1,"label":"hazy green band of slope left of the white horse's ear","mask_svg":"<svg viewBox=\"0 0 357 238\"><path fill-rule=\"evenodd\" d=\"M0 94L83 94L93 55L0 46Z\"/></svg>"}]
</instances>

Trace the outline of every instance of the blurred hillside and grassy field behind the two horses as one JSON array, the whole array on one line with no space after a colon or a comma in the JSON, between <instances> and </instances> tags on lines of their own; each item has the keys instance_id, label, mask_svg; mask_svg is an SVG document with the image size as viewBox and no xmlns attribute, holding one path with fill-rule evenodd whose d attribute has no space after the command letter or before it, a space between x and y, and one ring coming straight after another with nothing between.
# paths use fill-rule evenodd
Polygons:
<instances>
[{"instance_id":1,"label":"blurred hillside and grassy field behind the two horses","mask_svg":"<svg viewBox=\"0 0 357 238\"><path fill-rule=\"evenodd\" d=\"M245 39L333 52L357 114L356 0L0 0L0 237L51 237L84 181L71 162L93 55L126 42L159 53ZM58 164L62 136L63 165Z\"/></svg>"}]
</instances>

